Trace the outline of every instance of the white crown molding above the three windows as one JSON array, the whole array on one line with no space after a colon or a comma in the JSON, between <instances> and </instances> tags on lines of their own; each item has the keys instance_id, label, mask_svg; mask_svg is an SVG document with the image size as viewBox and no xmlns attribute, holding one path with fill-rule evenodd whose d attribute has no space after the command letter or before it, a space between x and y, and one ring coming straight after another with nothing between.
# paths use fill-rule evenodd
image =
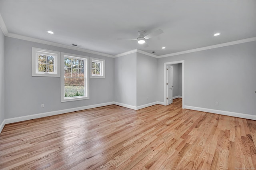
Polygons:
<instances>
[{"instance_id":1,"label":"white crown molding above the three windows","mask_svg":"<svg viewBox=\"0 0 256 170\"><path fill-rule=\"evenodd\" d=\"M56 46L56 47L62 47L62 48L66 48L66 49L74 49L76 51L83 51L83 52L86 52L86 53L91 53L91 54L102 55L102 56L114 58L114 55L100 53L100 52L91 51L91 50L88 50L88 49L82 49L82 48L78 48L78 47L72 47L72 46L63 45L63 44L60 44L60 43L49 42L49 41L40 40L40 39L36 39L36 38L31 38L31 37L27 37L27 36L21 36L21 35L18 35L18 34L8 33L6 36L11 37L11 38L26 40L26 41L30 41L30 42L37 42L37 43L42 43L42 44L47 44L47 45L53 45L53 46Z\"/></svg>"}]
</instances>

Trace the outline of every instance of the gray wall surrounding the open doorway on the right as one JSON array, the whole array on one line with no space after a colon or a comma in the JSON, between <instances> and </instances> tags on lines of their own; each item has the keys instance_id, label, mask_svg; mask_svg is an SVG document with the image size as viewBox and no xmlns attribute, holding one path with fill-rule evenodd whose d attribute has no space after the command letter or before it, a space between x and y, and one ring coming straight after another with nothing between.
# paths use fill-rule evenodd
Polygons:
<instances>
[{"instance_id":1,"label":"gray wall surrounding the open doorway on the right","mask_svg":"<svg viewBox=\"0 0 256 170\"><path fill-rule=\"evenodd\" d=\"M256 115L255 41L158 59L158 101L163 63L179 60L185 60L185 105Z\"/></svg>"}]
</instances>

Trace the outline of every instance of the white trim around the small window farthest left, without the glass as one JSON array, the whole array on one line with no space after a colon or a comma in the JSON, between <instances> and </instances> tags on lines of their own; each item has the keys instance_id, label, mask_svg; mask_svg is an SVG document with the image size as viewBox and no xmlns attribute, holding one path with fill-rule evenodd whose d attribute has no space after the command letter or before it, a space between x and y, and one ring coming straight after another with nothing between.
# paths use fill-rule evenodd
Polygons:
<instances>
[{"instance_id":1,"label":"white trim around the small window farthest left, without the glass","mask_svg":"<svg viewBox=\"0 0 256 170\"><path fill-rule=\"evenodd\" d=\"M37 55L38 53L44 53L44 54L48 53L55 56L53 73L38 72L38 55ZM32 76L60 77L60 52L32 47Z\"/></svg>"}]
</instances>

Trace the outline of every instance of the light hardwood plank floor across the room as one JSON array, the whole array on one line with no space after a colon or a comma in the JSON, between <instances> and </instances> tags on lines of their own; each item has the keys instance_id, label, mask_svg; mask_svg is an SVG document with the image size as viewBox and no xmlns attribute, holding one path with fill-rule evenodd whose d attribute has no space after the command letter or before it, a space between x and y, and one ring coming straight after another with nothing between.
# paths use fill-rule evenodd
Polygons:
<instances>
[{"instance_id":1,"label":"light hardwood plank floor across the room","mask_svg":"<svg viewBox=\"0 0 256 170\"><path fill-rule=\"evenodd\" d=\"M0 169L256 169L256 121L110 105L5 125Z\"/></svg>"}]
</instances>

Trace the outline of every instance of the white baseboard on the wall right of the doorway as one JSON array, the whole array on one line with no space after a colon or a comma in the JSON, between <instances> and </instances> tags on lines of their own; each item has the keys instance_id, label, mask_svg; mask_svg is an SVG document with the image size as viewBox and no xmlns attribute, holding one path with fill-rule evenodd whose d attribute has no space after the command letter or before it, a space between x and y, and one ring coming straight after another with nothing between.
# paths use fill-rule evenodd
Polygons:
<instances>
[{"instance_id":1,"label":"white baseboard on the wall right of the doorway","mask_svg":"<svg viewBox=\"0 0 256 170\"><path fill-rule=\"evenodd\" d=\"M232 117L239 117L239 118L244 118L244 119L256 120L256 115L248 115L248 114L244 114L244 113L221 111L221 110L207 109L207 108L194 107L194 106L185 106L184 109L190 109L190 110L195 110L195 111L202 111L202 112L208 112L208 113L216 113L216 114L219 114L219 115L226 115L226 116L232 116Z\"/></svg>"}]
</instances>

